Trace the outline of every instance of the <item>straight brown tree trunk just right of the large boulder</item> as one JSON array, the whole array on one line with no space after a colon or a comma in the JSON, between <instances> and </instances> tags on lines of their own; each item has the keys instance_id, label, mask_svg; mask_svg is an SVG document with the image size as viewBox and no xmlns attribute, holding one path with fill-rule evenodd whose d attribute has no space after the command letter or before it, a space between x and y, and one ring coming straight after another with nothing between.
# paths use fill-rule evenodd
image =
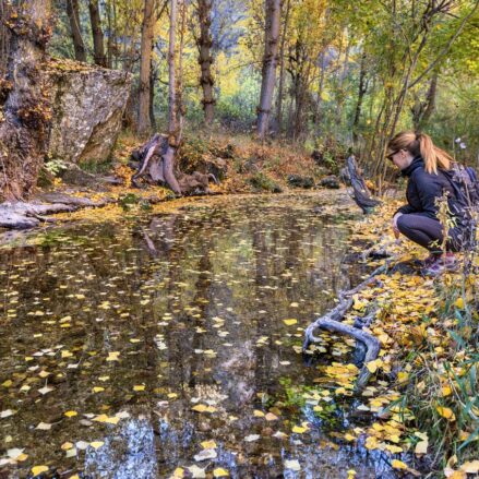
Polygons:
<instances>
[{"instance_id":1,"label":"straight brown tree trunk just right of the large boulder","mask_svg":"<svg viewBox=\"0 0 479 479\"><path fill-rule=\"evenodd\" d=\"M142 46L140 61L140 108L137 123L137 133L141 136L147 135L152 130L152 123L149 121L149 73L152 68L153 27L155 26L155 16L153 14L154 7L154 0L145 0L142 24Z\"/></svg>"}]
</instances>

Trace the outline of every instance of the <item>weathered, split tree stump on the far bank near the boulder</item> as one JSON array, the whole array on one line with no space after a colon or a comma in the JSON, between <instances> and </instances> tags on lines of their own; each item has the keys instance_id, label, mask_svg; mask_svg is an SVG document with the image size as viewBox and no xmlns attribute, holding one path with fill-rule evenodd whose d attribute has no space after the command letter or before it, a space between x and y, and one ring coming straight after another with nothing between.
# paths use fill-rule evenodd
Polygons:
<instances>
[{"instance_id":1,"label":"weathered, split tree stump on the far bank near the boulder","mask_svg":"<svg viewBox=\"0 0 479 479\"><path fill-rule=\"evenodd\" d=\"M177 194L209 193L209 180L218 183L212 173L194 171L185 175L173 171L175 151L168 144L168 136L155 134L151 140L132 153L132 160L139 161L137 171L132 176L133 187L140 188L141 177L147 177L154 183L168 185Z\"/></svg>"}]
</instances>

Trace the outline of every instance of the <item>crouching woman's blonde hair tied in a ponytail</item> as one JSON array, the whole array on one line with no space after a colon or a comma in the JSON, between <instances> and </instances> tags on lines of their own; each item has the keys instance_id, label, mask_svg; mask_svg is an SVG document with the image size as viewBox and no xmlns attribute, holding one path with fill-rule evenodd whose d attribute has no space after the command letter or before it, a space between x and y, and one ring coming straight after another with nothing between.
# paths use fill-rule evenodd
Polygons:
<instances>
[{"instance_id":1,"label":"crouching woman's blonde hair tied in a ponytail","mask_svg":"<svg viewBox=\"0 0 479 479\"><path fill-rule=\"evenodd\" d=\"M424 160L424 170L428 173L438 175L438 168L451 169L453 158L432 143L431 136L426 133L403 131L397 133L388 143L391 152L406 149L412 156L421 155Z\"/></svg>"}]
</instances>

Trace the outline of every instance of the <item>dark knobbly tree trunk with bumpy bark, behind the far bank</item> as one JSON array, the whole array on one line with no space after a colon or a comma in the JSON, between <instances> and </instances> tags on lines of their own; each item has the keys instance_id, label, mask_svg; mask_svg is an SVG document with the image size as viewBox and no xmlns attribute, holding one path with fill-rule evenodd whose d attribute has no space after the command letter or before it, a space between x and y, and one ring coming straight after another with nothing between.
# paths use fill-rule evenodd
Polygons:
<instances>
[{"instance_id":1,"label":"dark knobbly tree trunk with bumpy bark, behind the far bank","mask_svg":"<svg viewBox=\"0 0 479 479\"><path fill-rule=\"evenodd\" d=\"M215 116L215 98L213 87L215 80L212 74L212 8L213 0L197 0L197 15L200 20L200 37L196 38L200 50L199 63L201 67L200 83L203 89L204 123L211 125Z\"/></svg>"}]
</instances>

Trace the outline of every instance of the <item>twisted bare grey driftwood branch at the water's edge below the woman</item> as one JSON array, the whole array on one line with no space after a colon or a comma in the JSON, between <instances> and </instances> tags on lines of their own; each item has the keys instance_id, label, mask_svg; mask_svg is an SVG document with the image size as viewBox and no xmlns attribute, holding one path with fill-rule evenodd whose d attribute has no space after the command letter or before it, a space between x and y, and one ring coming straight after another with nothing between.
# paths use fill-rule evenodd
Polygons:
<instances>
[{"instance_id":1,"label":"twisted bare grey driftwood branch at the water's edge below the woman","mask_svg":"<svg viewBox=\"0 0 479 479\"><path fill-rule=\"evenodd\" d=\"M387 265L388 264L386 263L378 267L367 279L364 279L355 288L348 291L342 291L339 294L339 303L333 310L328 311L326 314L311 323L304 331L304 342L302 345L303 352L307 351L311 344L320 342L320 338L315 335L316 330L326 330L332 333L344 334L355 338L358 342L361 342L366 346L366 357L363 360L363 366L356 381L356 392L361 392L368 384L368 381L371 378L371 372L366 367L366 364L369 361L373 361L374 359L376 359L381 349L381 343L376 337L374 337L370 333L367 333L366 331L361 331L362 327L370 325L375 316L376 311L372 311L367 318L363 318L362 321L356 322L354 326L344 324L342 323L342 321L344 320L349 309L352 307L352 295L356 295L368 285L375 282L378 279L378 275L387 271Z\"/></svg>"}]
</instances>

